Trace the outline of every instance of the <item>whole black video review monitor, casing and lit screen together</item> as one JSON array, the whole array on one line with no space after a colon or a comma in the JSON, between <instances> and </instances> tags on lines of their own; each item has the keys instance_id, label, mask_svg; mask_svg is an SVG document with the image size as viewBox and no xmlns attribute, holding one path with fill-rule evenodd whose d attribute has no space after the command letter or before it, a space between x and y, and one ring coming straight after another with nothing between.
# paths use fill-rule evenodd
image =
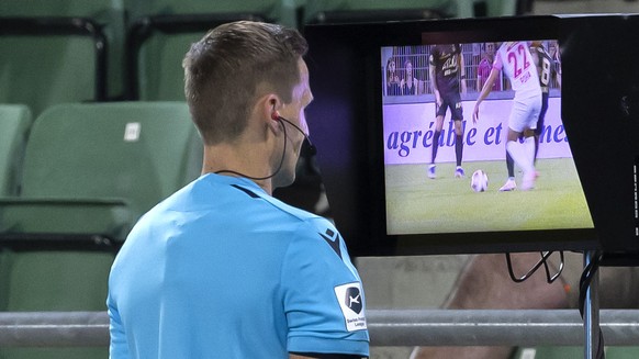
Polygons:
<instances>
[{"instance_id":1,"label":"whole black video review monitor, casing and lit screen together","mask_svg":"<svg viewBox=\"0 0 639 359\"><path fill-rule=\"evenodd\" d=\"M311 136L354 256L639 250L639 19L305 30Z\"/></svg>"}]
</instances>

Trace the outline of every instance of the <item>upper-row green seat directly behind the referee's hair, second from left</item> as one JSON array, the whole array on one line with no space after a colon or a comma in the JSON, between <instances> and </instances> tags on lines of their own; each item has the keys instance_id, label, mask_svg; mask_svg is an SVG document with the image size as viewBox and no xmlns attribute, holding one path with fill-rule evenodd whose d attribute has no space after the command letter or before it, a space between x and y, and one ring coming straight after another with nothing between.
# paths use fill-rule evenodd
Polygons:
<instances>
[{"instance_id":1,"label":"upper-row green seat directly behind the referee's hair, second from left","mask_svg":"<svg viewBox=\"0 0 639 359\"><path fill-rule=\"evenodd\" d=\"M127 100L184 99L182 58L209 30L235 20L294 24L280 0L136 1L126 35Z\"/></svg>"}]
</instances>

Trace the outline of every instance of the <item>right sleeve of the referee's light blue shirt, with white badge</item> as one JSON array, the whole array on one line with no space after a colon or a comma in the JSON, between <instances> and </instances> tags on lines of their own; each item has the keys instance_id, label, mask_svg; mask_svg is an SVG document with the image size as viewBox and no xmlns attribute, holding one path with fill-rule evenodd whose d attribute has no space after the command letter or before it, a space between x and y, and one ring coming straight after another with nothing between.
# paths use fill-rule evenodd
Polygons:
<instances>
[{"instance_id":1,"label":"right sleeve of the referee's light blue shirt, with white badge","mask_svg":"<svg viewBox=\"0 0 639 359\"><path fill-rule=\"evenodd\" d=\"M361 280L326 220L294 234L282 266L290 352L369 355Z\"/></svg>"}]
</instances>

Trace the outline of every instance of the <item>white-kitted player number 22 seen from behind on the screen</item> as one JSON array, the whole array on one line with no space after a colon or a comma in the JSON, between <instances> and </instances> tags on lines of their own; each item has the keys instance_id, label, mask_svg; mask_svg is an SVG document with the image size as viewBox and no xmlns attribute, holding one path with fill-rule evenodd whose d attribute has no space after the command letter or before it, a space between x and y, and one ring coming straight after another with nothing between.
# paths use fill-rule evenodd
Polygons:
<instances>
[{"instance_id":1,"label":"white-kitted player number 22 seen from behind on the screen","mask_svg":"<svg viewBox=\"0 0 639 359\"><path fill-rule=\"evenodd\" d=\"M515 91L508 117L506 150L515 164L524 170L520 189L525 191L535 188L537 179L534 135L541 111L541 87L539 86L537 67L532 60L532 55L530 55L530 45L527 42L505 42L500 46L491 74L482 88L472 114L472 121L477 123L480 104L491 92L500 71L504 71ZM524 136L523 144L517 141L522 135Z\"/></svg>"}]
</instances>

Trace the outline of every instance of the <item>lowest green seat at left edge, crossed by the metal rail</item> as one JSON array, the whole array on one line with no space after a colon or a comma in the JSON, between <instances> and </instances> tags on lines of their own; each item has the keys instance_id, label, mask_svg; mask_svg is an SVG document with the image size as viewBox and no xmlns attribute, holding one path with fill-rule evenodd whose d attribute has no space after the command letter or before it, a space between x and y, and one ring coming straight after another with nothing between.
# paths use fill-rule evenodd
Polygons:
<instances>
[{"instance_id":1,"label":"lowest green seat at left edge, crossed by the metal rail","mask_svg":"<svg viewBox=\"0 0 639 359\"><path fill-rule=\"evenodd\" d=\"M15 244L16 245L16 244ZM113 247L13 246L0 239L0 311L104 311ZM107 347L7 348L2 359L104 359Z\"/></svg>"}]
</instances>

